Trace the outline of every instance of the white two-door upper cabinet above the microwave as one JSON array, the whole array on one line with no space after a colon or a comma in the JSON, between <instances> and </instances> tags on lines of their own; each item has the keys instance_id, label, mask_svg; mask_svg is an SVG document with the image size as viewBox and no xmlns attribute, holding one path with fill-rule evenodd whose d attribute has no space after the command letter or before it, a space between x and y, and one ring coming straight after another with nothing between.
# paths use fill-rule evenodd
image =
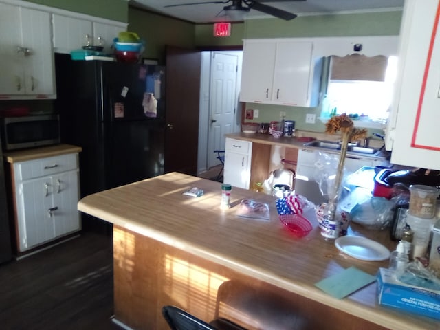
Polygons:
<instances>
[{"instance_id":1,"label":"white two-door upper cabinet above the microwave","mask_svg":"<svg viewBox=\"0 0 440 330\"><path fill-rule=\"evenodd\" d=\"M50 14L0 3L1 98L54 98Z\"/></svg>"}]
</instances>

